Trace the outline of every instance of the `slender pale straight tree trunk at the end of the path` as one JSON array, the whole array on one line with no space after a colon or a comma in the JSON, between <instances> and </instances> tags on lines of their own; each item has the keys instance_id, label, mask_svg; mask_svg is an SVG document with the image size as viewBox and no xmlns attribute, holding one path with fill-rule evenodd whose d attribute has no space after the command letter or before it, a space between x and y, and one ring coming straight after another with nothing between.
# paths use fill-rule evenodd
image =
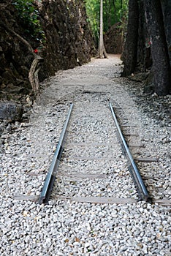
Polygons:
<instances>
[{"instance_id":1,"label":"slender pale straight tree trunk at the end of the path","mask_svg":"<svg viewBox=\"0 0 171 256\"><path fill-rule=\"evenodd\" d=\"M107 58L103 41L103 0L100 0L100 36L99 36L99 58Z\"/></svg>"}]
</instances>

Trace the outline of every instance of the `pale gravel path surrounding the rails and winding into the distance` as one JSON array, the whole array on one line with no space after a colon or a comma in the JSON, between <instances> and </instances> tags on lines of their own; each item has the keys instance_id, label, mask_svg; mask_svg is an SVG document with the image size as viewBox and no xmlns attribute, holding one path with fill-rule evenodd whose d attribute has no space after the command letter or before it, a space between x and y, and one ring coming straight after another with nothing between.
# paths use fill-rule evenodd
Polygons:
<instances>
[{"instance_id":1,"label":"pale gravel path surrounding the rails and winding into the distance","mask_svg":"<svg viewBox=\"0 0 171 256\"><path fill-rule=\"evenodd\" d=\"M167 113L155 118L156 110L140 98L140 87L119 78L120 73L117 56L57 72L42 84L29 121L16 122L12 132L1 135L0 255L171 255L170 205L161 204L171 197L170 120ZM170 97L162 100L170 102ZM155 98L158 105L160 101ZM39 196L70 102L74 108L53 191L56 199L39 205L31 198ZM134 157L159 159L137 163L158 203L137 202L109 102L123 124L134 122L129 129L123 125L131 134ZM133 200L80 203L73 197ZM17 200L24 198L29 200Z\"/></svg>"}]
</instances>

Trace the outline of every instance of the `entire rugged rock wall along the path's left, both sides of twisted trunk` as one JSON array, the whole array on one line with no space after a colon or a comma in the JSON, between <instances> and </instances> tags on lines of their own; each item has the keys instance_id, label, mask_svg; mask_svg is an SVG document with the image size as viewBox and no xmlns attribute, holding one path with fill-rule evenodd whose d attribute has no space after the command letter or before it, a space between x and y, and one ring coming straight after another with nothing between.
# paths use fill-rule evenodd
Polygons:
<instances>
[{"instance_id":1,"label":"entire rugged rock wall along the path's left, both sides of twisted trunk","mask_svg":"<svg viewBox=\"0 0 171 256\"><path fill-rule=\"evenodd\" d=\"M44 59L40 80L54 75L58 69L90 61L94 45L83 1L34 1L45 31L44 42L37 42L29 34L11 2L0 3L0 99L10 100L15 94L20 100L20 94L31 91L28 71L37 57L34 50L40 44L42 50L38 54Z\"/></svg>"}]
</instances>

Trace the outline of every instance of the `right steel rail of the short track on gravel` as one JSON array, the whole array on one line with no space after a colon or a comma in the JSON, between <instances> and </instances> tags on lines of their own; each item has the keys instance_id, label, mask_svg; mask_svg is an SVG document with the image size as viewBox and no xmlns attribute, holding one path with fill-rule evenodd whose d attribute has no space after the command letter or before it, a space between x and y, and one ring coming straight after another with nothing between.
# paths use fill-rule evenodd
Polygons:
<instances>
[{"instance_id":1,"label":"right steel rail of the short track on gravel","mask_svg":"<svg viewBox=\"0 0 171 256\"><path fill-rule=\"evenodd\" d=\"M117 118L115 116L115 112L113 110L113 106L112 106L111 103L109 103L109 105L110 105L110 110L111 110L112 115L113 115L113 119L115 121L115 126L116 126L116 128L118 130L119 140L121 140L121 148L122 148L123 154L126 157L128 157L128 159L129 159L129 171L132 174L132 178L133 178L134 184L137 187L137 192L138 192L138 195L140 197L140 200L148 201L150 199L150 196L148 195L148 191L147 191L147 189L145 187L144 182L142 181L142 178L140 176L140 172L137 169L137 166L135 165L135 162L134 162L134 159L132 157L132 154L129 151L129 148L128 148L127 144L126 144L126 140L123 138L123 134L121 132L121 128L119 127L118 120L117 120Z\"/></svg>"}]
</instances>

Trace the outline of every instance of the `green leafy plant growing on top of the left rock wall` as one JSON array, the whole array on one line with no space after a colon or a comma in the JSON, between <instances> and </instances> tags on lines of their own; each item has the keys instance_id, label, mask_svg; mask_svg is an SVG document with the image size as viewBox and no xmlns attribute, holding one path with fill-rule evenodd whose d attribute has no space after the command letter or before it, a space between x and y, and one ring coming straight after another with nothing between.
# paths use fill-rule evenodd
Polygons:
<instances>
[{"instance_id":1,"label":"green leafy plant growing on top of the left rock wall","mask_svg":"<svg viewBox=\"0 0 171 256\"><path fill-rule=\"evenodd\" d=\"M34 0L13 0L12 4L18 10L25 31L38 40L43 39L44 32L39 23L39 11L35 9Z\"/></svg>"}]
</instances>

